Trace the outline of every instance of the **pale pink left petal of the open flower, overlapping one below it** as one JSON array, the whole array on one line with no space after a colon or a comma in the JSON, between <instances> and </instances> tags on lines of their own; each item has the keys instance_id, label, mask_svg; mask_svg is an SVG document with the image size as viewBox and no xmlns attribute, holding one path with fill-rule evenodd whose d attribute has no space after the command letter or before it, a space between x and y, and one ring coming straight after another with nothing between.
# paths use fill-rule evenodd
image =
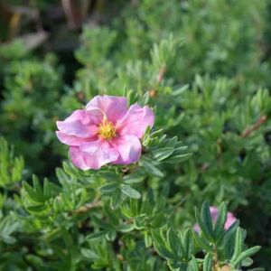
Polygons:
<instances>
[{"instance_id":1,"label":"pale pink left petal of the open flower, overlapping one below it","mask_svg":"<svg viewBox=\"0 0 271 271\"><path fill-rule=\"evenodd\" d=\"M98 127L92 123L86 110L76 110L64 121L57 121L58 129L66 135L89 138L97 133Z\"/></svg>"}]
</instances>

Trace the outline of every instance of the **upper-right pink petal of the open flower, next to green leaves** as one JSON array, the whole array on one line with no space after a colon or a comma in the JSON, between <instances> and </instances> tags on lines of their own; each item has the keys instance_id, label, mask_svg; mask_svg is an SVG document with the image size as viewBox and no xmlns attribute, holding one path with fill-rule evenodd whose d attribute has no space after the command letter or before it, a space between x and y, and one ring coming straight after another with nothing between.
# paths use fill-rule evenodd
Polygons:
<instances>
[{"instance_id":1,"label":"upper-right pink petal of the open flower, next to green leaves","mask_svg":"<svg viewBox=\"0 0 271 271\"><path fill-rule=\"evenodd\" d=\"M154 126L154 112L150 107L132 105L121 120L117 122L119 135L135 135L141 138L147 126Z\"/></svg>"}]
</instances>

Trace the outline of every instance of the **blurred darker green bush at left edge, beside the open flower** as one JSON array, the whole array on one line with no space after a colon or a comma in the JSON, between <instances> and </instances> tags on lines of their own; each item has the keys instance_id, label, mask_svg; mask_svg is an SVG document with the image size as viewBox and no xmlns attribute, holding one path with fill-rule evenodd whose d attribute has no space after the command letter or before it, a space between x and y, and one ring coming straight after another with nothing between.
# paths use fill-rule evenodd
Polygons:
<instances>
[{"instance_id":1,"label":"blurred darker green bush at left edge, beside the open flower","mask_svg":"<svg viewBox=\"0 0 271 271\"><path fill-rule=\"evenodd\" d=\"M48 175L58 164L60 153L53 147L53 130L60 115L57 102L64 92L62 68L52 54L38 60L29 52L23 53L23 44L14 43L10 51L13 47L22 50L13 59L9 51L0 50L0 60L5 63L0 131L23 154L30 172ZM51 161L44 159L51 153Z\"/></svg>"}]
</instances>

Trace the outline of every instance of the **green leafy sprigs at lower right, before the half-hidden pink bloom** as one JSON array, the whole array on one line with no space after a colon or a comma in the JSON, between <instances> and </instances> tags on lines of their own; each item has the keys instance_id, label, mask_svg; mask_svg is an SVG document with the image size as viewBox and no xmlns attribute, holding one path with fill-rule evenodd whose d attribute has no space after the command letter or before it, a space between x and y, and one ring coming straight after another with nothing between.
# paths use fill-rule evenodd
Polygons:
<instances>
[{"instance_id":1,"label":"green leafy sprigs at lower right, before the half-hidden pink bloom","mask_svg":"<svg viewBox=\"0 0 271 271\"><path fill-rule=\"evenodd\" d=\"M177 233L169 228L166 236L163 230L154 231L154 248L167 259L171 270L239 270L241 266L250 266L253 261L249 257L260 247L245 248L246 231L238 227L238 222L224 229L226 214L226 206L222 203L218 220L213 225L210 207L205 201L201 214L196 210L201 235L192 229ZM200 251L205 257L196 258Z\"/></svg>"}]
</instances>

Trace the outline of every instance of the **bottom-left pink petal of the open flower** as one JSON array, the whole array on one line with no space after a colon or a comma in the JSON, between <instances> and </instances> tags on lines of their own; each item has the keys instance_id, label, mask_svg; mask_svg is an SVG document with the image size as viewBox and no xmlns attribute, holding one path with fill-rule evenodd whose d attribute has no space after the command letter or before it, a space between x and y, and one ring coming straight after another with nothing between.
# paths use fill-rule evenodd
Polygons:
<instances>
[{"instance_id":1,"label":"bottom-left pink petal of the open flower","mask_svg":"<svg viewBox=\"0 0 271 271\"><path fill-rule=\"evenodd\" d=\"M102 165L117 160L117 151L105 140L85 142L79 145L85 163L91 169L99 169Z\"/></svg>"}]
</instances>

